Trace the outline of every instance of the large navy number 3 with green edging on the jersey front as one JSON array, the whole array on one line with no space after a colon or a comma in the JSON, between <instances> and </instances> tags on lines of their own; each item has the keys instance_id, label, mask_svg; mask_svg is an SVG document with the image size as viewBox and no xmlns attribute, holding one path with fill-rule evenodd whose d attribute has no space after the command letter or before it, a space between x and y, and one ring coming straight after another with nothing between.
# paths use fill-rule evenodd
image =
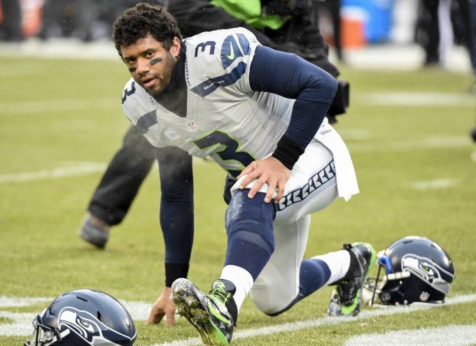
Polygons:
<instances>
[{"instance_id":1,"label":"large navy number 3 with green edging on the jersey front","mask_svg":"<svg viewBox=\"0 0 476 346\"><path fill-rule=\"evenodd\" d=\"M200 147L200 149L216 146L217 150L214 151L214 154L217 154L223 160L223 168L233 177L237 177L243 168L255 161L255 158L248 152L237 151L239 147L237 140L222 131L211 132L207 136L194 140L193 143ZM223 145L225 146L224 148ZM241 169L234 169L237 168L237 165L234 162L227 161L238 161L242 167Z\"/></svg>"}]
</instances>

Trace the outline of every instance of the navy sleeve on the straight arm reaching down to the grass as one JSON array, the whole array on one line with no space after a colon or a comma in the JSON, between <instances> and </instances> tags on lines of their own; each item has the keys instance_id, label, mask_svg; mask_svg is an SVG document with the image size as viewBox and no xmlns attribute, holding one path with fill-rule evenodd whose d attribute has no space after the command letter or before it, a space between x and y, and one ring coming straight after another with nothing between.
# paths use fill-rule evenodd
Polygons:
<instances>
[{"instance_id":1,"label":"navy sleeve on the straight arm reaching down to the grass","mask_svg":"<svg viewBox=\"0 0 476 346\"><path fill-rule=\"evenodd\" d=\"M156 148L155 154L162 192L160 226L165 263L188 266L194 231L192 157L178 147Z\"/></svg>"}]
</instances>

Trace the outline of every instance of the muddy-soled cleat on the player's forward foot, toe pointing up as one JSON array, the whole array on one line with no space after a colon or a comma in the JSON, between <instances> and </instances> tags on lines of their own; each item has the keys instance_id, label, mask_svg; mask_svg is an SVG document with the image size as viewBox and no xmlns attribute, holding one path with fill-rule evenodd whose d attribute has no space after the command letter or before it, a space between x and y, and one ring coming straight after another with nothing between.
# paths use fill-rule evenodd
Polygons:
<instances>
[{"instance_id":1,"label":"muddy-soled cleat on the player's forward foot, toe pointing up","mask_svg":"<svg viewBox=\"0 0 476 346\"><path fill-rule=\"evenodd\" d=\"M205 345L228 346L237 321L236 288L228 280L216 280L209 294L180 278L172 284L172 296L179 315L188 319L200 333Z\"/></svg>"}]
</instances>

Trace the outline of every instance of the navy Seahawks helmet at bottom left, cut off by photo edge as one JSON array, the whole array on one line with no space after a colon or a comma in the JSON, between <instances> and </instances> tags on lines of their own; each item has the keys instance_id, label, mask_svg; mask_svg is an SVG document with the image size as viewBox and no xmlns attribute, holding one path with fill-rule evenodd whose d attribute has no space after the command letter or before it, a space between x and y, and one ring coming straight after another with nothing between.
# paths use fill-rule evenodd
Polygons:
<instances>
[{"instance_id":1,"label":"navy Seahawks helmet at bottom left, cut off by photo edge","mask_svg":"<svg viewBox=\"0 0 476 346\"><path fill-rule=\"evenodd\" d=\"M25 346L133 346L137 338L125 307L92 289L62 294L32 323L34 331Z\"/></svg>"}]
</instances>

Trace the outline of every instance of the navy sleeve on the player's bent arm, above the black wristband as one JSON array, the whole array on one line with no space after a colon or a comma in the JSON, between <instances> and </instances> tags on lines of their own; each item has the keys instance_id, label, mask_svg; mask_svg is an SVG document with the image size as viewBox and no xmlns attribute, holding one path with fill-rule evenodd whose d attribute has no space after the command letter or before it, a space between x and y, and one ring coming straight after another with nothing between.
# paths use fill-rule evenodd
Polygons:
<instances>
[{"instance_id":1,"label":"navy sleeve on the player's bent arm, above the black wristband","mask_svg":"<svg viewBox=\"0 0 476 346\"><path fill-rule=\"evenodd\" d=\"M327 113L337 80L297 55L258 46L250 68L251 89L295 99L283 137L307 147Z\"/></svg>"}]
</instances>

